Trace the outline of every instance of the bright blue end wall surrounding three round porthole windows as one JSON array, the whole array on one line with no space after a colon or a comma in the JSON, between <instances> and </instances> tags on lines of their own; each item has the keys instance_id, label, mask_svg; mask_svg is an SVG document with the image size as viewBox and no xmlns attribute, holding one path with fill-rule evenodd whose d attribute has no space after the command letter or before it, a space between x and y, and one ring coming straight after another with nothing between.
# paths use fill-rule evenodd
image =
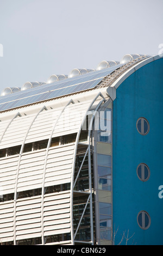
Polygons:
<instances>
[{"instance_id":1,"label":"bright blue end wall surrounding three round porthole windows","mask_svg":"<svg viewBox=\"0 0 163 256\"><path fill-rule=\"evenodd\" d=\"M145 117L149 133L140 135L136 121ZM163 245L163 59L155 60L130 75L116 91L113 102L112 134L112 216L115 244L129 230L127 245ZM142 182L137 177L139 163L149 166L151 175ZM137 214L145 210L151 225L143 230ZM123 239L121 245L126 243Z\"/></svg>"}]
</instances>

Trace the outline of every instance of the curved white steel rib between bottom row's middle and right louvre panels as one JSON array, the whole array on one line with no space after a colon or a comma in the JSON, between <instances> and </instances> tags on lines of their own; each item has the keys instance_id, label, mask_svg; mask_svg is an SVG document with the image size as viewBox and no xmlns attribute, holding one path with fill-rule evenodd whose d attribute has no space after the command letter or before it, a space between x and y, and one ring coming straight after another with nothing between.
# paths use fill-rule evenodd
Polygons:
<instances>
[{"instance_id":1,"label":"curved white steel rib between bottom row's middle and right louvre panels","mask_svg":"<svg viewBox=\"0 0 163 256\"><path fill-rule=\"evenodd\" d=\"M55 130L55 126L58 123L59 118L61 117L62 113L65 111L65 108L70 105L70 103L72 103L73 100L71 99L70 101L68 101L68 103L66 104L66 106L64 108L62 108L60 114L58 115L57 120L55 121L55 124L52 128L51 131L51 135L48 139L48 144L47 144L47 148L46 148L46 156L45 156L45 163L44 163L44 168L43 168L43 179L42 179L42 194L41 194L41 236L42 236L42 245L45 245L45 240L44 240L44 235L43 235L43 198L44 198L44 193L45 193L45 174L46 174L46 164L47 164L47 157L48 157L48 151L49 151L49 147L51 145L51 141L52 141L52 136L53 136L53 132Z\"/></svg>"}]
</instances>

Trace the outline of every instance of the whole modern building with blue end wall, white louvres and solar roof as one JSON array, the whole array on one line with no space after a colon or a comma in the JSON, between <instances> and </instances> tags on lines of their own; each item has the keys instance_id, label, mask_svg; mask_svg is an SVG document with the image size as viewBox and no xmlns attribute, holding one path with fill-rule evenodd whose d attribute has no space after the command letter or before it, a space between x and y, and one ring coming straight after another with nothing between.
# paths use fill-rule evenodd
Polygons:
<instances>
[{"instance_id":1,"label":"whole modern building with blue end wall, white louvres and solar roof","mask_svg":"<svg viewBox=\"0 0 163 256\"><path fill-rule=\"evenodd\" d=\"M163 58L5 88L2 245L163 245Z\"/></svg>"}]
</instances>

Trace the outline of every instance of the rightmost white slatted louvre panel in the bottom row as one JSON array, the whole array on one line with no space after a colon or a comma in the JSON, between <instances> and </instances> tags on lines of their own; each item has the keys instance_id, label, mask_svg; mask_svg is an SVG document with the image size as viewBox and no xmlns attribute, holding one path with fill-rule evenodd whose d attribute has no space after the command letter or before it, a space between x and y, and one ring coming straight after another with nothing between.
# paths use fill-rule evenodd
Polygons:
<instances>
[{"instance_id":1,"label":"rightmost white slatted louvre panel in the bottom row","mask_svg":"<svg viewBox=\"0 0 163 256\"><path fill-rule=\"evenodd\" d=\"M45 195L43 230L45 236L70 233L70 191Z\"/></svg>"}]
</instances>

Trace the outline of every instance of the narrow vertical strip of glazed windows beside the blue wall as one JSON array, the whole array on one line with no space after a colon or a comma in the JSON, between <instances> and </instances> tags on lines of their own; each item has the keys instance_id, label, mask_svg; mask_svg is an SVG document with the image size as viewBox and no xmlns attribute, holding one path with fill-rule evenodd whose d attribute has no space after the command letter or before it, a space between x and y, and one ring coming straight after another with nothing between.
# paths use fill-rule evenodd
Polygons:
<instances>
[{"instance_id":1,"label":"narrow vertical strip of glazed windows beside the blue wall","mask_svg":"<svg viewBox=\"0 0 163 256\"><path fill-rule=\"evenodd\" d=\"M97 179L101 245L112 241L112 102L99 112L97 131Z\"/></svg>"}]
</instances>

